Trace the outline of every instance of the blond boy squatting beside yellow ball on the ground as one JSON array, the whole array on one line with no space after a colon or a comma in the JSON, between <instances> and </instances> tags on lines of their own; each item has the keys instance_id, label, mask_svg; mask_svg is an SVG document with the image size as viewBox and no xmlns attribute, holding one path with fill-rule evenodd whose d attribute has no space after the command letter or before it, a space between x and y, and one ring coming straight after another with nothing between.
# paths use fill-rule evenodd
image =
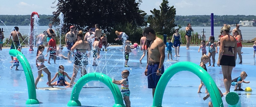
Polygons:
<instances>
[{"instance_id":1,"label":"blond boy squatting beside yellow ball on the ground","mask_svg":"<svg viewBox=\"0 0 256 107\"><path fill-rule=\"evenodd\" d=\"M244 81L244 79L246 77L247 77L247 74L246 74L246 72L243 71L243 72L241 72L240 77L237 77L232 80L231 85L235 86L234 91L243 91L243 89L241 88L241 84L242 83L250 83L250 81L248 81L248 82ZM238 89L237 89L237 87L238 87Z\"/></svg>"}]
</instances>

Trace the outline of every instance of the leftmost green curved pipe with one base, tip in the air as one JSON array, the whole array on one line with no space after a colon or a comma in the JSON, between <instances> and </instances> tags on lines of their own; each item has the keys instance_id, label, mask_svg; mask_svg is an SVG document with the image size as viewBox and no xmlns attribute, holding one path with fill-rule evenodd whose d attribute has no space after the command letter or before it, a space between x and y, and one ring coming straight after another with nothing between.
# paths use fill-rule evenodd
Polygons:
<instances>
[{"instance_id":1,"label":"leftmost green curved pipe with one base, tip in the air","mask_svg":"<svg viewBox=\"0 0 256 107\"><path fill-rule=\"evenodd\" d=\"M36 87L33 73L27 58L16 49L11 49L9 54L19 60L19 63L22 65L24 70L28 86L28 100L26 101L26 104L39 104L39 101L36 99Z\"/></svg>"}]
</instances>

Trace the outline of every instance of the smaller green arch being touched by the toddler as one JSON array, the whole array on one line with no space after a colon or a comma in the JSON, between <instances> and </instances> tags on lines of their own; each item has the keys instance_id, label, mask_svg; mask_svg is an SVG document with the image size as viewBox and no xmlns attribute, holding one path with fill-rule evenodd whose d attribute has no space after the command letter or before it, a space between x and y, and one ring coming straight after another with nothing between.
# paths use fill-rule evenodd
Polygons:
<instances>
[{"instance_id":1,"label":"smaller green arch being touched by the toddler","mask_svg":"<svg viewBox=\"0 0 256 107\"><path fill-rule=\"evenodd\" d=\"M81 106L81 102L78 100L80 91L83 86L90 81L101 81L110 88L115 99L113 107L125 107L118 85L112 83L112 79L110 77L101 73L89 73L81 77L73 87L68 106Z\"/></svg>"}]
</instances>

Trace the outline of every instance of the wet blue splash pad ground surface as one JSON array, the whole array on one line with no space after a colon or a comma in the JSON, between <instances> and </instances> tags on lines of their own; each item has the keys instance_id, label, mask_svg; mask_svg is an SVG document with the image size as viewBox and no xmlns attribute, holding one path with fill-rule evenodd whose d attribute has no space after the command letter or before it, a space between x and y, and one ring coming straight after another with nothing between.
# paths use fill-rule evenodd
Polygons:
<instances>
[{"instance_id":1,"label":"wet blue splash pad ground surface","mask_svg":"<svg viewBox=\"0 0 256 107\"><path fill-rule=\"evenodd\" d=\"M22 51L30 63L33 76L35 79L37 77L37 68L35 66L36 51L31 52L28 51L28 49L29 48L23 48ZM108 50L110 51L101 51L101 58L96 62L99 66L93 67L91 63L86 67L87 72L92 73L96 71L98 73L106 74L109 77L114 78L115 80L121 80L121 71L124 69L128 69L130 71L130 76L128 78L130 80L129 88L131 91L131 106L152 106L152 89L147 88L147 79L146 76L144 75L144 70L146 66L146 56L142 60L143 64L139 64L139 59L142 55L142 51L134 49L132 50L128 61L128 65L130 67L124 67L122 55L123 52L121 51L121 49L121 46L116 46L109 47ZM65 50L66 48L64 48L64 51ZM167 61L166 52L166 61L164 62L165 69L168 68L170 65L180 61L190 61L199 64L201 52L198 53L197 51L198 47L196 46L191 47L190 50L186 50L185 47L181 47L181 57L174 57L173 54L173 60L175 61ZM251 87L252 90L254 91L254 89L256 89L256 86L254 86L253 84L255 83L256 75L253 71L256 68L256 60L253 58L252 47L243 47L242 51L243 64L238 64L239 59L237 59L237 65L232 71L232 79L239 77L241 71L247 72L248 77L246 78L245 81L250 81L251 83L242 83L241 88L244 89L245 87ZM0 105L26 106L25 102L28 99L28 90L25 74L23 71L15 71L15 68L13 68L13 70L9 69L12 63L9 63L10 57L8 52L9 49L3 49L3 51L0 51L0 64L2 65L0 66L0 69L2 69L2 73L0 74L0 80L3 84L3 86L0 89L0 95L5 96L0 98ZM46 53L44 52L44 54ZM67 52L65 51L63 55L67 56ZM46 57L46 59L48 59L48 57ZM71 59L74 59L74 57L71 57ZM218 55L216 55L215 59L218 59ZM53 60L51 60L51 63L53 63ZM52 65L45 63L45 65L51 72L51 78L54 77L56 72L58 72L59 65L63 65L65 67L65 72L67 72L69 76L72 76L73 64L68 63L67 60L56 60L56 63L57 64ZM215 66L217 66L217 63L215 63ZM18 67L18 69L23 70L21 64ZM222 92L225 92L221 67L207 67L207 69L208 73L211 75L216 85L220 88ZM47 74L45 74L44 72L43 74L44 77L41 77L41 79L39 80L39 83L37 85L38 88L47 87ZM79 78L80 74L78 73L77 79ZM70 82L70 80L68 80L67 78L66 80ZM76 81L77 80L75 80L75 82ZM175 74L169 80L166 86L162 106L207 106L209 100L202 100L202 98L205 97L206 94L197 94L199 84L200 79L191 72L182 71ZM110 107L113 106L113 104L115 103L110 89L105 84L99 81L90 81L84 86L88 88L82 88L80 92L79 101L81 102L82 106ZM234 86L231 86L230 91L234 92L233 90ZM70 100L71 92L72 88L66 88L66 90L55 91L36 90L37 99L39 100L39 102L41 102L40 106L67 106L67 103ZM202 88L201 92L205 92L205 87ZM253 92L236 93L239 94L240 100L242 102L242 107L252 107L256 105L256 96L253 94ZM224 97L222 98L224 106L228 106Z\"/></svg>"}]
</instances>

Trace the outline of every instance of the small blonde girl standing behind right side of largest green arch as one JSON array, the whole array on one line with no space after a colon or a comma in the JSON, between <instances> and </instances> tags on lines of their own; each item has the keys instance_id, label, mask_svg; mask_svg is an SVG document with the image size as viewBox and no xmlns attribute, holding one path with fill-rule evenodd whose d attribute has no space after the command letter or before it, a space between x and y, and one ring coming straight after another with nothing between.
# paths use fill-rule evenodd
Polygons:
<instances>
[{"instance_id":1,"label":"small blonde girl standing behind right side of largest green arch","mask_svg":"<svg viewBox=\"0 0 256 107\"><path fill-rule=\"evenodd\" d=\"M207 55L205 55L205 54L201 57L200 66L201 66L202 68L204 68L206 72L207 72L207 68L206 68L205 63L207 63L208 60L209 60L209 57L208 57ZM198 92L197 92L197 93L202 93L202 92L201 92L201 88L202 88L203 85L204 85L204 83L203 83L202 80L201 80L201 84L200 84L199 87L198 87ZM205 87L205 93L208 93L208 90L207 90L206 87Z\"/></svg>"}]
</instances>

